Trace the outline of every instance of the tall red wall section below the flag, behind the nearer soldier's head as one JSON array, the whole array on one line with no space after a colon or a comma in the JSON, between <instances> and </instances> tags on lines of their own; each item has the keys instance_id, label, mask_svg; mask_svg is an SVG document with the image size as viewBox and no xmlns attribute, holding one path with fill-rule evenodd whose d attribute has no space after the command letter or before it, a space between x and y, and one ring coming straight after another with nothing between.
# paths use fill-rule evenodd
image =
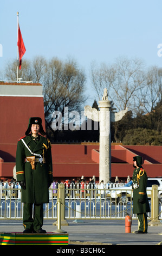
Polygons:
<instances>
[{"instance_id":1,"label":"tall red wall section below the flag, behind the nearer soldier's head","mask_svg":"<svg viewBox=\"0 0 162 256\"><path fill-rule=\"evenodd\" d=\"M25 135L30 117L41 117L43 127L43 97L0 97L0 143L17 143Z\"/></svg>"}]
</instances>

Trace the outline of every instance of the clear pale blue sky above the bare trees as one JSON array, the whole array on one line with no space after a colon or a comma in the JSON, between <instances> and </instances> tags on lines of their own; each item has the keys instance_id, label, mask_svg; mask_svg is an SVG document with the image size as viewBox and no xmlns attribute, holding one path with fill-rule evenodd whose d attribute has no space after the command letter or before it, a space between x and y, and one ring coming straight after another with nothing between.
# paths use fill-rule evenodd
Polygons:
<instances>
[{"instance_id":1,"label":"clear pale blue sky above the bare trees","mask_svg":"<svg viewBox=\"0 0 162 256\"><path fill-rule=\"evenodd\" d=\"M160 0L1 0L0 71L17 58L17 11L27 50L24 58L72 57L87 76L93 60L111 64L121 56L162 67L161 4ZM90 97L89 80L87 92Z\"/></svg>"}]
</instances>

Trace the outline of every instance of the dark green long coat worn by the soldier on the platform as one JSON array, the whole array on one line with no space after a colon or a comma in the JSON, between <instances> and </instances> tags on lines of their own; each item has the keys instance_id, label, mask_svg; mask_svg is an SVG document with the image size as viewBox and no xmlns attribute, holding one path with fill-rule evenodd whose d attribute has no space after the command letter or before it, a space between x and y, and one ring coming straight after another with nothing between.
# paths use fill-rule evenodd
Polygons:
<instances>
[{"instance_id":1,"label":"dark green long coat worn by the soldier on the platform","mask_svg":"<svg viewBox=\"0 0 162 256\"><path fill-rule=\"evenodd\" d=\"M23 137L24 142L28 145L33 153L45 153L46 163L36 163L33 170L30 162L26 162L27 156L32 156L30 151L25 147L22 138L17 143L16 151L16 176L17 181L25 181L26 189L22 189L23 203L49 203L49 184L53 182L53 166L51 159L51 145L48 139L39 135L39 141L34 141L31 135ZM46 145L44 146L43 143ZM46 149L47 148L47 149ZM37 156L36 156L37 157Z\"/></svg>"}]
</instances>

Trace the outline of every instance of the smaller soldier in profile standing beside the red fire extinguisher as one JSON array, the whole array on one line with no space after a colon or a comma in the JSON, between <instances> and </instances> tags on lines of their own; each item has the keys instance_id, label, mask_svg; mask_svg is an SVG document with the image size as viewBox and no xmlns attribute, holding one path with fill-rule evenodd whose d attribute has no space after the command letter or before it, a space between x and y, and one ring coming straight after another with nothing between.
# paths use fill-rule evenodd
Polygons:
<instances>
[{"instance_id":1,"label":"smaller soldier in profile standing beside the red fire extinguisher","mask_svg":"<svg viewBox=\"0 0 162 256\"><path fill-rule=\"evenodd\" d=\"M147 174L142 168L142 157L133 157L134 172L132 177L133 182L133 214L137 214L139 220L139 230L136 234L147 233L147 212L150 212L148 198L146 193Z\"/></svg>"}]
</instances>

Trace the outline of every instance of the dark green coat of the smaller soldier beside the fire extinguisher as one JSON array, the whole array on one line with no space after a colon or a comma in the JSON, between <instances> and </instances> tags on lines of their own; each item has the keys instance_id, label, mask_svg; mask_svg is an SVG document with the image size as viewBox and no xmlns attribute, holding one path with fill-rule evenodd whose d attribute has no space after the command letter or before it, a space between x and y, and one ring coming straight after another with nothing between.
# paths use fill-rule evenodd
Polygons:
<instances>
[{"instance_id":1,"label":"dark green coat of the smaller soldier beside the fire extinguisher","mask_svg":"<svg viewBox=\"0 0 162 256\"><path fill-rule=\"evenodd\" d=\"M148 198L146 193L147 188L147 174L144 169L134 169L133 184L137 184L138 188L133 188L133 214L144 214L150 212L150 206L148 204ZM144 200L144 203L140 203L139 200Z\"/></svg>"}]
</instances>

